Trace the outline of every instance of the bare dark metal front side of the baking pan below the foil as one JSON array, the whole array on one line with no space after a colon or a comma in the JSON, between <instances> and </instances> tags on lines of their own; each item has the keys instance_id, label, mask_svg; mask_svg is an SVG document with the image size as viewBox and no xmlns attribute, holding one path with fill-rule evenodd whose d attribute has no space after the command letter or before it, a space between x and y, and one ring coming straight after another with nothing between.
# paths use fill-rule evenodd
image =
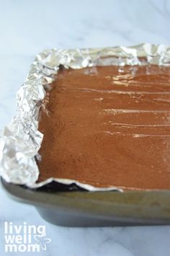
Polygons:
<instances>
[{"instance_id":1,"label":"bare dark metal front side of the baking pan below the foil","mask_svg":"<svg viewBox=\"0 0 170 256\"><path fill-rule=\"evenodd\" d=\"M1 179L15 200L35 206L43 219L60 226L170 224L170 191L89 192L32 190ZM60 187L60 186L59 186ZM61 190L64 188L61 187Z\"/></svg>"}]
</instances>

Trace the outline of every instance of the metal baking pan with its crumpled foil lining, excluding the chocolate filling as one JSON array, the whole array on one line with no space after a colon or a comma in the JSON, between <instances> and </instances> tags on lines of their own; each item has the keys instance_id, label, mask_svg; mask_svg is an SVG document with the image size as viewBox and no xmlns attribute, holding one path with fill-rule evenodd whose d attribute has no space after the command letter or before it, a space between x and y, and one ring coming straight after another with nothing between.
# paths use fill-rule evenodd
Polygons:
<instances>
[{"instance_id":1,"label":"metal baking pan with its crumpled foil lining, excluding the chocolate filling","mask_svg":"<svg viewBox=\"0 0 170 256\"><path fill-rule=\"evenodd\" d=\"M35 156L42 142L37 131L44 88L59 66L170 65L170 48L143 44L130 48L45 50L37 55L17 94L17 113L0 140L1 182L15 200L30 203L42 218L61 226L170 224L170 190L123 191L92 187L73 180L49 178L36 183Z\"/></svg>"}]
</instances>

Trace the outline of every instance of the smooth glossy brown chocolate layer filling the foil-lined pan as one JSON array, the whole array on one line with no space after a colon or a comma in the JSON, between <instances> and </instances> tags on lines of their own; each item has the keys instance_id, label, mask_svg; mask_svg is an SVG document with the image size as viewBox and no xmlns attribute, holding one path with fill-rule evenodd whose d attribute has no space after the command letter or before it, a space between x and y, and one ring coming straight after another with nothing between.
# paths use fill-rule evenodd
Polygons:
<instances>
[{"instance_id":1,"label":"smooth glossy brown chocolate layer filling the foil-lined pan","mask_svg":"<svg viewBox=\"0 0 170 256\"><path fill-rule=\"evenodd\" d=\"M45 100L39 181L170 189L170 67L63 69Z\"/></svg>"}]
</instances>

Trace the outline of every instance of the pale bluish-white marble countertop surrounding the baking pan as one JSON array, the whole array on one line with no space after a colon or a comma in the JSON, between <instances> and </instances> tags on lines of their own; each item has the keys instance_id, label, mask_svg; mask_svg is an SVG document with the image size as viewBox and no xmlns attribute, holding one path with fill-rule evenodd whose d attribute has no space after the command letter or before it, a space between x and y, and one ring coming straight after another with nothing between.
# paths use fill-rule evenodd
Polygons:
<instances>
[{"instance_id":1,"label":"pale bluish-white marble countertop surrounding the baking pan","mask_svg":"<svg viewBox=\"0 0 170 256\"><path fill-rule=\"evenodd\" d=\"M0 0L0 129L14 114L16 92L38 52L146 42L170 45L169 17L170 1L163 0ZM0 195L1 256L11 255L4 252L4 221L46 226L51 242L47 250L32 255L170 255L169 226L59 227L41 219L33 206L10 199L1 187Z\"/></svg>"}]
</instances>

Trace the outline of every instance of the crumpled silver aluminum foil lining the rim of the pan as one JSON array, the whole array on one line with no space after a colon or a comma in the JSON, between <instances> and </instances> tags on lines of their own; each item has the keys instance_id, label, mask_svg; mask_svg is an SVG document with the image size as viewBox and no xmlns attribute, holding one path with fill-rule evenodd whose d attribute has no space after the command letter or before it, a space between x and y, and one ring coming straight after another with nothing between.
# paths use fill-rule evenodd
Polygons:
<instances>
[{"instance_id":1,"label":"crumpled silver aluminum foil lining the rim of the pan","mask_svg":"<svg viewBox=\"0 0 170 256\"><path fill-rule=\"evenodd\" d=\"M37 130L38 112L45 97L45 88L55 79L60 65L81 69L108 65L170 65L170 48L164 45L141 44L133 47L45 50L32 63L27 79L17 92L17 112L4 128L0 139L0 174L6 182L42 187L50 182L76 185L85 190L120 190L117 187L94 187L76 180L49 178L36 183L39 169L35 156L43 134ZM57 184L57 183L56 183Z\"/></svg>"}]
</instances>

